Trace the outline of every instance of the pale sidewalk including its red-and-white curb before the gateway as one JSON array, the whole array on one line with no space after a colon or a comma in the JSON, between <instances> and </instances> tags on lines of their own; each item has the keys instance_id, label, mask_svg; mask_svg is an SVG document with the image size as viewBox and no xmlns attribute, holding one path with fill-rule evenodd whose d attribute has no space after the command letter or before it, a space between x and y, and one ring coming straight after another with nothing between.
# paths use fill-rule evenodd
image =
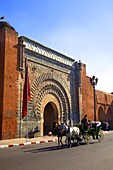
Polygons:
<instances>
[{"instance_id":1,"label":"pale sidewalk including its red-and-white curb before the gateway","mask_svg":"<svg viewBox=\"0 0 113 170\"><path fill-rule=\"evenodd\" d=\"M15 146L24 146L30 144L40 144L40 143L48 143L48 142L56 142L56 136L42 136L36 138L17 138L17 139L8 139L8 140L0 140L0 149L15 147Z\"/></svg>"}]
</instances>

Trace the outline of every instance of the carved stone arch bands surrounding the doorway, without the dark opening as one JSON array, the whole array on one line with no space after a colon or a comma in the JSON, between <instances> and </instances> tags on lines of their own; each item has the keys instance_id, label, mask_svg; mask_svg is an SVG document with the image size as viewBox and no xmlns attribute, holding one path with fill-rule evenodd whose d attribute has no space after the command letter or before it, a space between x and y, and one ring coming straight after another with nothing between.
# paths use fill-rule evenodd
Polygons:
<instances>
[{"instance_id":1,"label":"carved stone arch bands surrounding the doorway, without the dark opening","mask_svg":"<svg viewBox=\"0 0 113 170\"><path fill-rule=\"evenodd\" d=\"M61 84L62 82L62 84ZM50 95L56 99L56 107L58 108L58 117L60 122L66 122L68 113L70 112L71 96L65 82L60 80L55 73L45 73L39 76L31 86L31 100L28 103L29 116L30 112L34 112L34 117L29 117L29 120L38 120L43 126L44 108L47 103L51 102L51 98L46 98ZM43 127L41 127L43 129Z\"/></svg>"}]
</instances>

